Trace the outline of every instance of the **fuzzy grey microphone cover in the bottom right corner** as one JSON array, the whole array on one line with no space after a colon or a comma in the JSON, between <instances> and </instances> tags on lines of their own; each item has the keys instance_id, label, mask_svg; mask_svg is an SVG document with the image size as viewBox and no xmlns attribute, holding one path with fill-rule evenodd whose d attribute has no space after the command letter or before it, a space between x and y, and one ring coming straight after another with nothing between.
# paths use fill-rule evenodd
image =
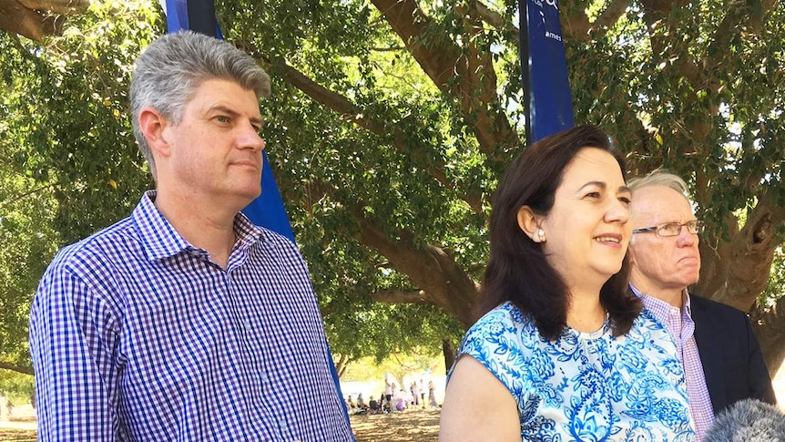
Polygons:
<instances>
[{"instance_id":1,"label":"fuzzy grey microphone cover in the bottom right corner","mask_svg":"<svg viewBox=\"0 0 785 442\"><path fill-rule=\"evenodd\" d=\"M719 413L703 442L785 442L785 413L758 399L740 400Z\"/></svg>"}]
</instances>

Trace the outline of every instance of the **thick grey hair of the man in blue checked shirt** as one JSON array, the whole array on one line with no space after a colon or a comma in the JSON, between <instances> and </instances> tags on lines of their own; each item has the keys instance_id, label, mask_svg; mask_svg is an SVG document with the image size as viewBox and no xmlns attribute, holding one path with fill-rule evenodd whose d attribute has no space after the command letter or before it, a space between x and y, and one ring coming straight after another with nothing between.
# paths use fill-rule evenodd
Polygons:
<instances>
[{"instance_id":1,"label":"thick grey hair of the man in blue checked shirt","mask_svg":"<svg viewBox=\"0 0 785 442\"><path fill-rule=\"evenodd\" d=\"M139 128L139 111L155 108L178 124L183 108L205 81L225 79L253 90L256 98L270 95L270 77L248 54L224 40L191 31L161 36L137 58L131 80L131 119L139 149L156 177L148 140Z\"/></svg>"}]
</instances>

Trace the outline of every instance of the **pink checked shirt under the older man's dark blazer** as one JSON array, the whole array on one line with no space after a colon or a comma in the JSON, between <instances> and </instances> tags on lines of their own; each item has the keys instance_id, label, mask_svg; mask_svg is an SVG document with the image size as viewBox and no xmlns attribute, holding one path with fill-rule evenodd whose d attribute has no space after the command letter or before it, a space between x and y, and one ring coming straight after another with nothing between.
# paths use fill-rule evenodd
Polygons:
<instances>
[{"instance_id":1,"label":"pink checked shirt under the older man's dark blazer","mask_svg":"<svg viewBox=\"0 0 785 442\"><path fill-rule=\"evenodd\" d=\"M711 406L709 387L706 386L706 377L703 374L703 365L700 363L698 344L695 343L695 323L692 322L687 290L682 295L683 309L679 309L660 301L657 298L641 293L630 284L633 293L643 300L644 307L665 325L668 333L676 341L678 358L684 365L684 377L687 381L687 394L689 396L689 411L695 422L695 433L698 440L714 422L714 408Z\"/></svg>"}]
</instances>

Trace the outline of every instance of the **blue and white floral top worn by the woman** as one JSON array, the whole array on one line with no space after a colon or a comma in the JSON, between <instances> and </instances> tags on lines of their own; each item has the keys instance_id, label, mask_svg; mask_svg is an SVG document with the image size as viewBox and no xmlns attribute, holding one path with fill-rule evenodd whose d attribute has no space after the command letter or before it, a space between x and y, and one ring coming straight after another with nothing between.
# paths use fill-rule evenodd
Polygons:
<instances>
[{"instance_id":1,"label":"blue and white floral top worn by the woman","mask_svg":"<svg viewBox=\"0 0 785 442\"><path fill-rule=\"evenodd\" d=\"M467 332L461 355L512 393L521 440L695 440L676 344L646 311L623 336L606 322L595 333L567 328L548 341L529 316L503 303Z\"/></svg>"}]
</instances>

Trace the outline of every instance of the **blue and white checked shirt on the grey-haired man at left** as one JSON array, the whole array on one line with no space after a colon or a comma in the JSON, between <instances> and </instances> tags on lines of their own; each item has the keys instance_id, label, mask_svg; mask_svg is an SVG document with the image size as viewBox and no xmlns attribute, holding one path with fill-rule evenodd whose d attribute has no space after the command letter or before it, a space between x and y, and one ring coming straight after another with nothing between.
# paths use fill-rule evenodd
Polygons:
<instances>
[{"instance_id":1,"label":"blue and white checked shirt on the grey-haired man at left","mask_svg":"<svg viewBox=\"0 0 785 442\"><path fill-rule=\"evenodd\" d=\"M60 251L41 280L39 440L353 440L295 246L239 214L224 270L154 199Z\"/></svg>"}]
</instances>

